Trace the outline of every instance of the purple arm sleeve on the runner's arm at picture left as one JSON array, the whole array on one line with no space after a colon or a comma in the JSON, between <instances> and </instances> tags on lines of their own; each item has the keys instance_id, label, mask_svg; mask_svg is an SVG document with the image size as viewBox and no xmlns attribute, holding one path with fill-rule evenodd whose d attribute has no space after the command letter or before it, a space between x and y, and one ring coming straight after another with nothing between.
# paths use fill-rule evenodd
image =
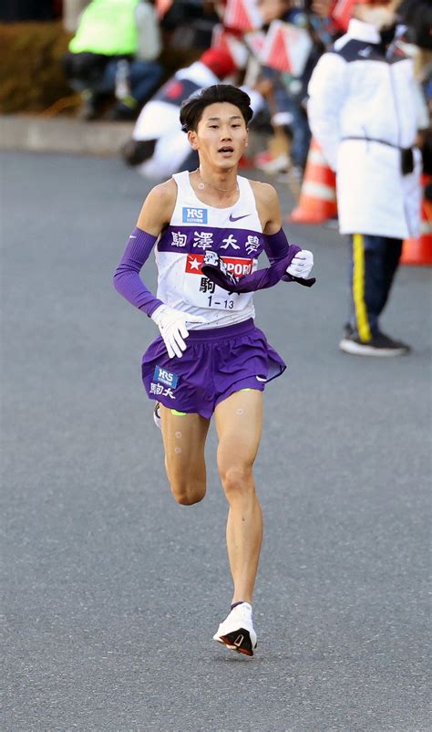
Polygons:
<instances>
[{"instance_id":1,"label":"purple arm sleeve on the runner's arm at picture left","mask_svg":"<svg viewBox=\"0 0 432 732\"><path fill-rule=\"evenodd\" d=\"M139 272L148 260L157 238L136 227L129 236L128 246L114 273L114 287L120 295L123 295L132 305L149 317L163 303L151 294L149 288L139 277Z\"/></svg>"}]
</instances>

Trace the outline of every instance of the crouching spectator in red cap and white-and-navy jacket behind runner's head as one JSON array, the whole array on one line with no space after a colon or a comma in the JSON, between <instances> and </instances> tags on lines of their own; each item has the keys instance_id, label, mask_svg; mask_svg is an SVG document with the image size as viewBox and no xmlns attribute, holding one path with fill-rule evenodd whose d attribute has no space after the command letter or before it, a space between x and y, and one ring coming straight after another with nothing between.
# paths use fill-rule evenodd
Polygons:
<instances>
[{"instance_id":1,"label":"crouching spectator in red cap and white-and-navy jacket behind runner's head","mask_svg":"<svg viewBox=\"0 0 432 732\"><path fill-rule=\"evenodd\" d=\"M181 102L199 89L221 83L235 71L231 55L220 48L210 48L199 61L180 68L141 110L133 138L123 149L125 162L139 165L140 173L159 179L196 168L197 153L180 127Z\"/></svg>"}]
</instances>

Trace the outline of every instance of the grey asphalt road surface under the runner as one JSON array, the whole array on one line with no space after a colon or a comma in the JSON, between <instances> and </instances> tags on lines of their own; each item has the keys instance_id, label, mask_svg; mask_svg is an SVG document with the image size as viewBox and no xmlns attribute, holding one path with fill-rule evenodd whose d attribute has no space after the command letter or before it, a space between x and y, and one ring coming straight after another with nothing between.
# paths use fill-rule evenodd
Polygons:
<instances>
[{"instance_id":1,"label":"grey asphalt road surface under the runner","mask_svg":"<svg viewBox=\"0 0 432 732\"><path fill-rule=\"evenodd\" d=\"M140 385L156 331L111 285L146 183L114 159L0 162L2 730L431 730L430 270L400 270L383 321L412 354L350 357L345 243L287 227L318 282L255 298L289 371L265 392L248 659L211 641L231 599L214 432L208 496L180 507Z\"/></svg>"}]
</instances>

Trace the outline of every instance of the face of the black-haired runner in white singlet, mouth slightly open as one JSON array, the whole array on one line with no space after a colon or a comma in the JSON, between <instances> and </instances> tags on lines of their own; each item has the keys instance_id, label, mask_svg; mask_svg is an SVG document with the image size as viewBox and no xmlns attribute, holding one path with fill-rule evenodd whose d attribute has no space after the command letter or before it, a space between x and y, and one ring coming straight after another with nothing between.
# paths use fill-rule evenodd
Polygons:
<instances>
[{"instance_id":1,"label":"face of the black-haired runner in white singlet, mouth slightly open","mask_svg":"<svg viewBox=\"0 0 432 732\"><path fill-rule=\"evenodd\" d=\"M227 101L206 107L198 130L189 134L190 144L199 152L200 161L210 162L221 170L230 170L236 165L248 143L242 112Z\"/></svg>"}]
</instances>

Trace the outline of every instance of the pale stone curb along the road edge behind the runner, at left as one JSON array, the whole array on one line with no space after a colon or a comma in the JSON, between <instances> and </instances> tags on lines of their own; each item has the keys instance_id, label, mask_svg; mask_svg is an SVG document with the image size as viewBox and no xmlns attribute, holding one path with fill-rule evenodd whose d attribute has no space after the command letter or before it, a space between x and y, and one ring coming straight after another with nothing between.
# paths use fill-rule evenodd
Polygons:
<instances>
[{"instance_id":1,"label":"pale stone curb along the road edge behind the runner, at left","mask_svg":"<svg viewBox=\"0 0 432 732\"><path fill-rule=\"evenodd\" d=\"M132 137L134 122L86 122L37 116L0 117L0 150L117 155Z\"/></svg>"}]
</instances>

